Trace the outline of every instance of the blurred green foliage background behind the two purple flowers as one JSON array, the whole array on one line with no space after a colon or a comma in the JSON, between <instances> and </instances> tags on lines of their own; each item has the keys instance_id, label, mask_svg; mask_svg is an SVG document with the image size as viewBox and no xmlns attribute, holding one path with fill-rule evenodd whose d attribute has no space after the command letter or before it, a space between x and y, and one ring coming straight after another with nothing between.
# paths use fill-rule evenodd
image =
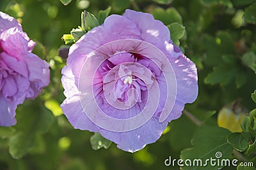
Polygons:
<instances>
[{"instance_id":1,"label":"blurred green foliage background behind the two purple flowers","mask_svg":"<svg viewBox=\"0 0 256 170\"><path fill-rule=\"evenodd\" d=\"M172 38L198 68L198 99L186 104L186 110L204 125L218 129L218 112L237 99L241 100L239 107L247 110L242 114L255 108L251 99L256 89L254 0L73 0L67 6L59 0L1 0L0 10L19 20L23 31L37 43L33 52L50 64L51 83L35 101L18 106L17 125L0 127L0 170L179 169L164 166L164 160L169 156L179 159L182 150L200 145L191 139L204 127L182 115L156 143L139 152L123 152L115 144L95 151L90 144L93 133L74 129L63 115L60 78L66 59L58 53L65 45L61 37L81 25L82 11L97 17L99 10L109 6L111 14L122 15L127 8L151 13L177 33ZM246 140L247 147L255 140L253 136ZM211 141L207 142L211 149ZM241 154L255 160L255 150ZM227 156L234 158L231 152Z\"/></svg>"}]
</instances>

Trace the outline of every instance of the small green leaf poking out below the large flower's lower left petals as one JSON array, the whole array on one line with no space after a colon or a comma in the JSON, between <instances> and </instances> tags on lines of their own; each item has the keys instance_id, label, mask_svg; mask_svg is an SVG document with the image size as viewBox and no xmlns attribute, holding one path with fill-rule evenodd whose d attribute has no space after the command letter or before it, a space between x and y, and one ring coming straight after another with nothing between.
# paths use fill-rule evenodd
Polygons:
<instances>
[{"instance_id":1,"label":"small green leaf poking out below the large flower's lower left petals","mask_svg":"<svg viewBox=\"0 0 256 170\"><path fill-rule=\"evenodd\" d=\"M112 143L108 139L102 137L100 133L93 134L93 136L90 138L90 142L93 150L99 150L100 148L108 149Z\"/></svg>"}]
</instances>

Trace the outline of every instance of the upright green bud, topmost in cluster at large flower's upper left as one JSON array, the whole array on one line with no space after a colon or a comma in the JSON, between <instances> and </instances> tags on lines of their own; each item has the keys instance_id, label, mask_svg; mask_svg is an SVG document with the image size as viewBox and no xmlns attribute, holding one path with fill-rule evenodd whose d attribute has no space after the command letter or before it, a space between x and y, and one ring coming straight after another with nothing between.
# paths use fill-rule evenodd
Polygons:
<instances>
[{"instance_id":1,"label":"upright green bud, topmost in cluster at large flower's upper left","mask_svg":"<svg viewBox=\"0 0 256 170\"><path fill-rule=\"evenodd\" d=\"M82 20L82 28L85 31L90 31L93 27L99 26L99 21L97 18L88 11L83 11L81 13L81 20Z\"/></svg>"}]
</instances>

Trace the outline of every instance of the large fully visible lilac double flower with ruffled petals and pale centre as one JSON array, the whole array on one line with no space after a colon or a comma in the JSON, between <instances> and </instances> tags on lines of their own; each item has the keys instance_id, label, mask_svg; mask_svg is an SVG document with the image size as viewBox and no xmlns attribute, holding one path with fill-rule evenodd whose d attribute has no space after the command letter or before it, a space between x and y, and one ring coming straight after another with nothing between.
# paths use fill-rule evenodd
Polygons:
<instances>
[{"instance_id":1,"label":"large fully visible lilac double flower with ruffled petals and pale centre","mask_svg":"<svg viewBox=\"0 0 256 170\"><path fill-rule=\"evenodd\" d=\"M61 79L63 113L135 152L160 138L198 94L196 67L152 15L111 15L70 47Z\"/></svg>"}]
</instances>

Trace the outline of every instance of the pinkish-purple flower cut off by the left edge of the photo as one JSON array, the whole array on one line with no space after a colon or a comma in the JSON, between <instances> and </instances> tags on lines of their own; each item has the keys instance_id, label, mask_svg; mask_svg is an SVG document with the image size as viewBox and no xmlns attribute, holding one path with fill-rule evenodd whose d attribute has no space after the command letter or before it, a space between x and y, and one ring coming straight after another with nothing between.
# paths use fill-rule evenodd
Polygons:
<instances>
[{"instance_id":1,"label":"pinkish-purple flower cut off by the left edge of the photo","mask_svg":"<svg viewBox=\"0 0 256 170\"><path fill-rule=\"evenodd\" d=\"M0 11L0 125L16 124L15 110L49 84L49 65L34 53L36 43L22 27Z\"/></svg>"}]
</instances>

